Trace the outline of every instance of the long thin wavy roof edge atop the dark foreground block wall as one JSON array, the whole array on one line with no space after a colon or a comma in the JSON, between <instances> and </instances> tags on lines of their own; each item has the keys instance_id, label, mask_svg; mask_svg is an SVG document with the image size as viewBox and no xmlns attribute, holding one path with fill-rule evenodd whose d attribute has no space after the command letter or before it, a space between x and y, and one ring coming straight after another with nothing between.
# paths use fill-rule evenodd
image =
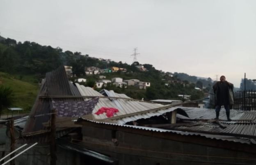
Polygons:
<instances>
[{"instance_id":1,"label":"long thin wavy roof edge atop the dark foreground block wall","mask_svg":"<svg viewBox=\"0 0 256 165\"><path fill-rule=\"evenodd\" d=\"M120 127L130 127L130 128L134 128L134 129L148 130L148 131L152 131L152 132L169 132L169 133L180 134L180 135L184 135L184 136L203 136L203 137L211 138L211 139L251 144L251 141L250 141L249 138L238 138L238 137L234 137L234 136L203 134L203 133L197 133L197 132L184 132L184 131L160 129L160 128L154 128L154 127L142 127L142 126L136 126L136 125L106 123L106 122L88 120L88 119L85 119L85 118L82 118L82 117L78 118L77 122L79 122L81 120L85 120L85 121L88 121L88 122L91 122L91 123L103 124L103 125L116 125L116 126L120 126Z\"/></svg>"}]
</instances>

